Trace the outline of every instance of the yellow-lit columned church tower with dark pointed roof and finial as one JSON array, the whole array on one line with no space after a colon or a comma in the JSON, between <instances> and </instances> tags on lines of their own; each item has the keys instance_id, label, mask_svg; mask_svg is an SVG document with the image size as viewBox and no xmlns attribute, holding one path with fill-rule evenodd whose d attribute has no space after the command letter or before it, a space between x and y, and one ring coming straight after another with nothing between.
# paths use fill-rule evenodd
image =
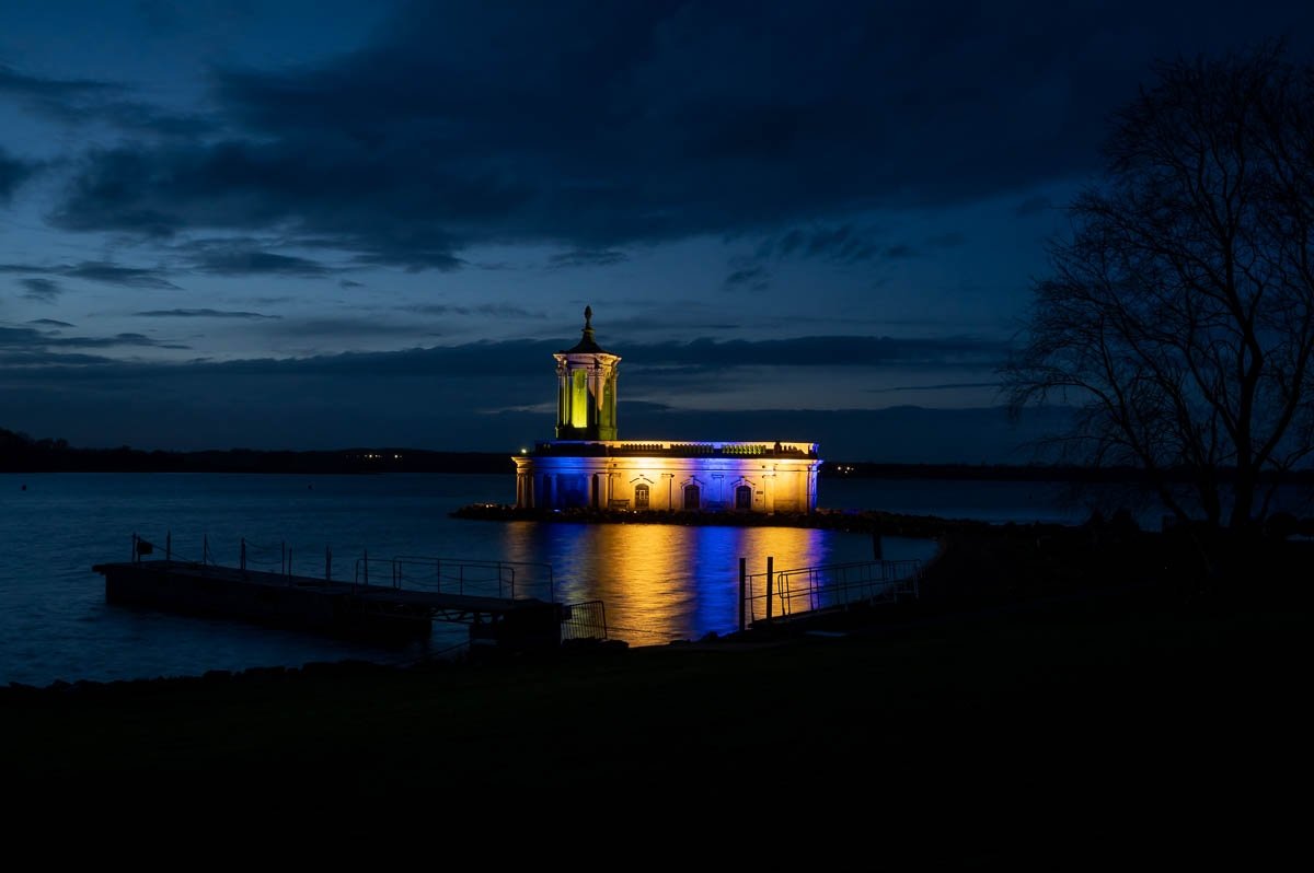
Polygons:
<instances>
[{"instance_id":1,"label":"yellow-lit columned church tower with dark pointed roof and finial","mask_svg":"<svg viewBox=\"0 0 1314 873\"><path fill-rule=\"evenodd\" d=\"M593 336L593 307L583 310L583 336L557 360L557 438L616 438L616 365L620 356Z\"/></svg>"}]
</instances>

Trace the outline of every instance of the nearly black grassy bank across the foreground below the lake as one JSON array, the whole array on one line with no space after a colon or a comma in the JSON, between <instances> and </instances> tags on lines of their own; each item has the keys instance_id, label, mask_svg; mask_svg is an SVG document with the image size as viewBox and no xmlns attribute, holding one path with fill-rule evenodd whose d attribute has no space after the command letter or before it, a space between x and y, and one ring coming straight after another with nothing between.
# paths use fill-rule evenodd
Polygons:
<instances>
[{"instance_id":1,"label":"nearly black grassy bank across the foreground below the lake","mask_svg":"<svg viewBox=\"0 0 1314 873\"><path fill-rule=\"evenodd\" d=\"M812 628L0 689L4 780L247 814L715 815L786 853L879 823L933 859L1264 859L1294 834L1275 780L1307 773L1306 545L1204 564L1162 534L993 530L949 541L920 604Z\"/></svg>"}]
</instances>

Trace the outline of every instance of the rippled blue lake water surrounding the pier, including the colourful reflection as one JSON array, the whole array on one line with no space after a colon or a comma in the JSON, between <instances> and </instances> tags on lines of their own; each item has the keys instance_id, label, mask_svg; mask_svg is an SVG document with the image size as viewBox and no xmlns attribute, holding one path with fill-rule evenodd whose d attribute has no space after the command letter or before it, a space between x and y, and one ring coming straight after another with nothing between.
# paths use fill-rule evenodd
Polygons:
<instances>
[{"instance_id":1,"label":"rippled blue lake water surrounding the pier, including the colourful reflection","mask_svg":"<svg viewBox=\"0 0 1314 873\"><path fill-rule=\"evenodd\" d=\"M127 561L131 534L175 557L237 564L246 538L252 566L319 576L326 549L335 579L367 551L378 572L394 555L547 564L557 600L600 599L612 637L631 645L733 630L738 561L750 572L869 561L862 534L791 528L574 525L468 521L448 513L514 498L510 475L386 474L0 474L0 683L110 681L210 670L301 667L363 659L405 663L443 656L464 626L435 624L410 650L389 650L171 616L105 603L96 563ZM1026 482L825 479L827 508L886 509L988 521L1081 521L1062 488ZM934 543L884 540L887 559L926 559ZM271 563L272 562L272 563ZM259 567L264 568L264 567ZM384 570L386 572L386 570Z\"/></svg>"}]
</instances>

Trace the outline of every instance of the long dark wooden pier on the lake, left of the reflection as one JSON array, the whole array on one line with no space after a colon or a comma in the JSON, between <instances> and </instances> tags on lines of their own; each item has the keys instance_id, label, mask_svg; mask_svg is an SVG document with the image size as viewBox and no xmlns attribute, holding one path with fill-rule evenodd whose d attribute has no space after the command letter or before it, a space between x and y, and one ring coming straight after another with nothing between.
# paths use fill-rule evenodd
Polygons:
<instances>
[{"instance_id":1,"label":"long dark wooden pier on the lake, left of the reflection","mask_svg":"<svg viewBox=\"0 0 1314 873\"><path fill-rule=\"evenodd\" d=\"M570 618L569 607L548 600L409 589L396 584L396 575L389 584L368 584L208 562L143 559L135 542L133 561L92 567L105 576L109 603L380 643L424 639L434 621L461 622L469 625L472 642L510 649L556 646L562 621Z\"/></svg>"}]
</instances>

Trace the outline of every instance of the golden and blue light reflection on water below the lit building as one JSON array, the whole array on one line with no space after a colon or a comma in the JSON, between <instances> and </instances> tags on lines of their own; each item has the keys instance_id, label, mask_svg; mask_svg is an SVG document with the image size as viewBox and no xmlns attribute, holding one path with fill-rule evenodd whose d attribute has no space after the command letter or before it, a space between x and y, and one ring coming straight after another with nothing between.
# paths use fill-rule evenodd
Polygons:
<instances>
[{"instance_id":1,"label":"golden and blue light reflection on water below the lit building","mask_svg":"<svg viewBox=\"0 0 1314 873\"><path fill-rule=\"evenodd\" d=\"M602 600L608 634L632 645L728 633L738 622L738 563L761 574L833 561L827 536L808 528L670 524L505 525L507 561L552 564L556 599Z\"/></svg>"}]
</instances>

